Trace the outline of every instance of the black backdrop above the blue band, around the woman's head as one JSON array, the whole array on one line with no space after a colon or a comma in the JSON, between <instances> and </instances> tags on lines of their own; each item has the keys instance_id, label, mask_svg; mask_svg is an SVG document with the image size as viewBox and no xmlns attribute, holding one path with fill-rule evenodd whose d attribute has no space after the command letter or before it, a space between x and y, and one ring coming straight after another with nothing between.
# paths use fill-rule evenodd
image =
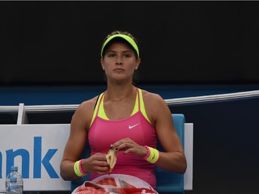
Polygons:
<instances>
[{"instance_id":1,"label":"black backdrop above the blue band, around the woman's head","mask_svg":"<svg viewBox=\"0 0 259 194\"><path fill-rule=\"evenodd\" d=\"M140 83L258 83L258 8L258 1L1 1L0 84L103 83L100 47L116 29L139 41Z\"/></svg>"}]
</instances>

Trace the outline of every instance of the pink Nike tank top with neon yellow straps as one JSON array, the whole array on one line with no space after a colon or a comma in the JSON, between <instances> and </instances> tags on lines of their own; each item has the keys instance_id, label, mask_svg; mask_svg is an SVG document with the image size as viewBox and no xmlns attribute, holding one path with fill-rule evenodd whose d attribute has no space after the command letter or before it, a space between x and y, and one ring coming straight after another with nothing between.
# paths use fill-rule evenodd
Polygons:
<instances>
[{"instance_id":1,"label":"pink Nike tank top with neon yellow straps","mask_svg":"<svg viewBox=\"0 0 259 194\"><path fill-rule=\"evenodd\" d=\"M105 92L100 95L96 105L96 116L93 118L88 133L91 155L94 155L95 153L106 154L108 153L111 144L117 142L119 139L127 137L142 146L156 147L157 136L155 127L148 122L142 113L144 112L144 114L146 114L146 111L141 110L141 107L144 108L144 104L141 106L143 99L140 99L140 93L142 97L142 91L137 88L137 112L122 120L108 120L99 117L98 113L100 105L103 105L101 102L103 101ZM137 157L131 153L127 155L124 155L123 152L118 153L117 163L115 168L113 168L113 173L133 175L148 182L153 188L156 186L155 165L146 162L142 157ZM93 180L98 176L99 175L97 174L91 174L90 180Z\"/></svg>"}]
</instances>

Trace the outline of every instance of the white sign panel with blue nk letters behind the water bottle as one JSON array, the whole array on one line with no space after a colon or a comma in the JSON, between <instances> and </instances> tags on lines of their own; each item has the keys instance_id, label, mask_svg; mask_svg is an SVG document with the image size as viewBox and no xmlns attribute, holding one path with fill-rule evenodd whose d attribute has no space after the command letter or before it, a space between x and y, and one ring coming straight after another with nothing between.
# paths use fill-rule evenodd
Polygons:
<instances>
[{"instance_id":1,"label":"white sign panel with blue nk letters behind the water bottle","mask_svg":"<svg viewBox=\"0 0 259 194\"><path fill-rule=\"evenodd\" d=\"M70 124L0 125L0 192L6 171L18 166L24 191L70 191L59 165Z\"/></svg>"}]
</instances>

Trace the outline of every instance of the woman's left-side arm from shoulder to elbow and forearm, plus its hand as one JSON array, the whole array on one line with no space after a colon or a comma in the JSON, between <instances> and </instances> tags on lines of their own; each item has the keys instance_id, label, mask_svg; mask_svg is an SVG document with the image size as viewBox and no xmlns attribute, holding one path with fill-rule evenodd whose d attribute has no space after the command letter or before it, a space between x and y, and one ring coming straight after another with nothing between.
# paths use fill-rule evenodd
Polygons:
<instances>
[{"instance_id":1,"label":"woman's left-side arm from shoulder to elbow and forearm, plus its hand","mask_svg":"<svg viewBox=\"0 0 259 194\"><path fill-rule=\"evenodd\" d=\"M86 146L88 138L88 128L93 117L93 111L97 97L83 102L75 111L70 125L70 136L64 149L64 155L60 164L60 175L64 180L76 180L79 178L75 174L74 164L79 160L81 153ZM81 162L84 172L93 172L100 175L108 171L106 157L97 153Z\"/></svg>"}]
</instances>

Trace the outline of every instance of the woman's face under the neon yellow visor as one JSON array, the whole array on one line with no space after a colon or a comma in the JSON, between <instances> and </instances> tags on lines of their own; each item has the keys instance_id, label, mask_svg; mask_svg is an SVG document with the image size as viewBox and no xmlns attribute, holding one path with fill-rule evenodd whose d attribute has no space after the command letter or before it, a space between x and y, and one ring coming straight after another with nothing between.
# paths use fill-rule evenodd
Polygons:
<instances>
[{"instance_id":1,"label":"woman's face under the neon yellow visor","mask_svg":"<svg viewBox=\"0 0 259 194\"><path fill-rule=\"evenodd\" d=\"M107 80L132 81L134 71L140 66L133 49L125 43L111 43L101 59Z\"/></svg>"}]
</instances>

